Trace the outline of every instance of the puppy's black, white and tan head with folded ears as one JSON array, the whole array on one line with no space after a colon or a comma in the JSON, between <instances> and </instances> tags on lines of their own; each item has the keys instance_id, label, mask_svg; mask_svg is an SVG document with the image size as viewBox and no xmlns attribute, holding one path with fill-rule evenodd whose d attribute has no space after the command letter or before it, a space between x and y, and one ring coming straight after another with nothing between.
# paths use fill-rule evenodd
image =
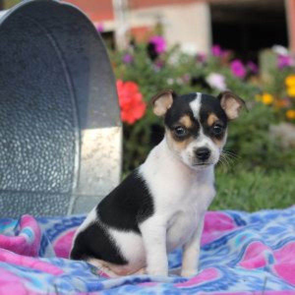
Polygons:
<instances>
[{"instance_id":1,"label":"puppy's black, white and tan head with folded ears","mask_svg":"<svg viewBox=\"0 0 295 295\"><path fill-rule=\"evenodd\" d=\"M189 167L202 170L218 162L228 121L238 117L244 101L230 91L218 97L203 93L177 95L172 90L153 97L153 112L164 116L168 147Z\"/></svg>"}]
</instances>

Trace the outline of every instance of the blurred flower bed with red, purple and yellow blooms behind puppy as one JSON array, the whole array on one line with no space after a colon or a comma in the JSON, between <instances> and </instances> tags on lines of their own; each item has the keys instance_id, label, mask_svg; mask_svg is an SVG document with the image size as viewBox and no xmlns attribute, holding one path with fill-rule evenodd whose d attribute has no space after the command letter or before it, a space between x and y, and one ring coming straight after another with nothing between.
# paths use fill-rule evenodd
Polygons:
<instances>
[{"instance_id":1,"label":"blurred flower bed with red, purple and yellow blooms behind puppy","mask_svg":"<svg viewBox=\"0 0 295 295\"><path fill-rule=\"evenodd\" d=\"M153 95L164 89L215 96L226 89L233 91L246 101L250 112L231 126L227 148L243 158L243 169L257 165L268 169L280 163L285 154L276 152L276 143L269 137L269 125L280 119L295 122L292 65L278 70L277 54L273 70L269 71L273 79L267 81L261 78L262 69L253 61L235 59L233 52L220 46L213 48L211 54L191 56L181 52L177 45L166 48L162 40L157 48L151 41L136 44L127 51L110 52L124 122L124 173L141 164L163 138L161 118L146 106ZM273 148L266 151L266 147ZM289 156L288 165L293 158Z\"/></svg>"}]
</instances>

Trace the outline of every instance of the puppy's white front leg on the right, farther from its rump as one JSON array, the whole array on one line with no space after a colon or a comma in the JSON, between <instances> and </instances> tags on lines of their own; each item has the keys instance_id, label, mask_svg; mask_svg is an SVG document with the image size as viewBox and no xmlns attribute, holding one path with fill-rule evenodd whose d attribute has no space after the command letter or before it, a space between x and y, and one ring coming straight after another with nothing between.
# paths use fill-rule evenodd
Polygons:
<instances>
[{"instance_id":1,"label":"puppy's white front leg on the right, farther from its rump","mask_svg":"<svg viewBox=\"0 0 295 295\"><path fill-rule=\"evenodd\" d=\"M183 246L181 276L193 276L198 272L200 242L204 227L204 215L191 236Z\"/></svg>"}]
</instances>

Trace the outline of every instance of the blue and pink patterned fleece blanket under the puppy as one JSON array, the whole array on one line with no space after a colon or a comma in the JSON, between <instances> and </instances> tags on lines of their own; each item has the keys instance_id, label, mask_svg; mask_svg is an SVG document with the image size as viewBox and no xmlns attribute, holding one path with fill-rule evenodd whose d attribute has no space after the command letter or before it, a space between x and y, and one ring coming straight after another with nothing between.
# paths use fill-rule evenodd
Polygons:
<instances>
[{"instance_id":1,"label":"blue and pink patterned fleece blanket under the puppy","mask_svg":"<svg viewBox=\"0 0 295 295\"><path fill-rule=\"evenodd\" d=\"M0 295L295 295L295 207L256 213L208 212L199 273L108 279L66 259L85 216L0 219ZM178 249L170 268L181 262Z\"/></svg>"}]
</instances>

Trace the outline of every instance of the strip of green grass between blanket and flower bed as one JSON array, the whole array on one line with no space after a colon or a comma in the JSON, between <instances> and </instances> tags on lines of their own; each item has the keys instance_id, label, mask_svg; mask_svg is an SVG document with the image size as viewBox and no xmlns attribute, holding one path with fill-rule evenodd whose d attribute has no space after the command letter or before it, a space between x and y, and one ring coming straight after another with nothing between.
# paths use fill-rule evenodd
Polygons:
<instances>
[{"instance_id":1,"label":"strip of green grass between blanket and flower bed","mask_svg":"<svg viewBox=\"0 0 295 295\"><path fill-rule=\"evenodd\" d=\"M295 205L295 169L246 170L242 163L216 169L216 197L211 210L257 211Z\"/></svg>"}]
</instances>

